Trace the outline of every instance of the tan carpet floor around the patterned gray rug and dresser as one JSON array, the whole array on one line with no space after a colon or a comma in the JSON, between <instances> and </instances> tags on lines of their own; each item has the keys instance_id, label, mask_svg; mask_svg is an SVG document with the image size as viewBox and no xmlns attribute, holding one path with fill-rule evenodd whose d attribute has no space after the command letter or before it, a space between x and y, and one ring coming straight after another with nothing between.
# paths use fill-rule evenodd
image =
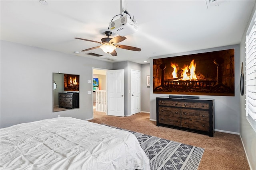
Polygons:
<instances>
[{"instance_id":1,"label":"tan carpet floor around the patterned gray rug and dresser","mask_svg":"<svg viewBox=\"0 0 256 170\"><path fill-rule=\"evenodd\" d=\"M155 121L149 120L148 113L117 117L94 111L94 119L90 121L204 148L198 170L250 170L239 135L215 132L214 137L209 137L168 127L158 127Z\"/></svg>"}]
</instances>

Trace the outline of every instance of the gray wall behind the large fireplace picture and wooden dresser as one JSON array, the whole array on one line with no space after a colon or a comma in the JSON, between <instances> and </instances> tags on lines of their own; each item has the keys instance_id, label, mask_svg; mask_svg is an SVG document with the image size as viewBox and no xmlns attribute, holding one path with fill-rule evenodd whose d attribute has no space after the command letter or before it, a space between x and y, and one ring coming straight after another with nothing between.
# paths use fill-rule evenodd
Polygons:
<instances>
[{"instance_id":1,"label":"gray wall behind the large fireplace picture and wooden dresser","mask_svg":"<svg viewBox=\"0 0 256 170\"><path fill-rule=\"evenodd\" d=\"M175 57L210 51L235 49L235 96L200 96L200 98L215 99L215 130L239 134L239 110L240 110L240 48L239 45L217 47L186 53L170 54L150 58L150 84L153 83L153 59ZM156 97L169 96L168 94L153 94L153 86L150 86L150 119L156 120ZM186 96L186 95L184 95ZM196 95L198 96L198 95Z\"/></svg>"}]
</instances>

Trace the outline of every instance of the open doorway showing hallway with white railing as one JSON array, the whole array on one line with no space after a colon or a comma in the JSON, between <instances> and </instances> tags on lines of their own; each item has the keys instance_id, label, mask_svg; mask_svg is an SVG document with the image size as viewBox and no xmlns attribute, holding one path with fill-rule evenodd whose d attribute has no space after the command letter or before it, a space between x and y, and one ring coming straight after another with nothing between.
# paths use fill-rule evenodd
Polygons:
<instances>
[{"instance_id":1,"label":"open doorway showing hallway with white railing","mask_svg":"<svg viewBox=\"0 0 256 170\"><path fill-rule=\"evenodd\" d=\"M93 88L93 118L95 116L106 115L106 94L107 94L107 70L102 68L92 68L92 88Z\"/></svg>"}]
</instances>

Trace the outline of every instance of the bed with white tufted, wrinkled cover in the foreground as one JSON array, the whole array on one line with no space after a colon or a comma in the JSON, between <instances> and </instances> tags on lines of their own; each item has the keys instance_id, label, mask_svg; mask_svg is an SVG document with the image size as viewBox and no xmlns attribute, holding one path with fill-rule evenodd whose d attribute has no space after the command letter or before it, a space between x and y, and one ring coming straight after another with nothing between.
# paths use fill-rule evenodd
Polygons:
<instances>
[{"instance_id":1,"label":"bed with white tufted, wrinkled cover in the foreground","mask_svg":"<svg viewBox=\"0 0 256 170\"><path fill-rule=\"evenodd\" d=\"M0 169L135 170L149 160L132 133L71 117L0 129Z\"/></svg>"}]
</instances>

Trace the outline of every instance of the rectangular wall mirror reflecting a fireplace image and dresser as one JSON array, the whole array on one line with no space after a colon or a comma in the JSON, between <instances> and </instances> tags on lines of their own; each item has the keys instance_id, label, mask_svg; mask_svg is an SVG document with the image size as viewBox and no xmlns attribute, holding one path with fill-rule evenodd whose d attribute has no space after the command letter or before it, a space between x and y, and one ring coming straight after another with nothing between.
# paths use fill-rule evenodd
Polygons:
<instances>
[{"instance_id":1,"label":"rectangular wall mirror reflecting a fireplace image and dresser","mask_svg":"<svg viewBox=\"0 0 256 170\"><path fill-rule=\"evenodd\" d=\"M53 73L52 81L52 111L79 108L79 75Z\"/></svg>"}]
</instances>

